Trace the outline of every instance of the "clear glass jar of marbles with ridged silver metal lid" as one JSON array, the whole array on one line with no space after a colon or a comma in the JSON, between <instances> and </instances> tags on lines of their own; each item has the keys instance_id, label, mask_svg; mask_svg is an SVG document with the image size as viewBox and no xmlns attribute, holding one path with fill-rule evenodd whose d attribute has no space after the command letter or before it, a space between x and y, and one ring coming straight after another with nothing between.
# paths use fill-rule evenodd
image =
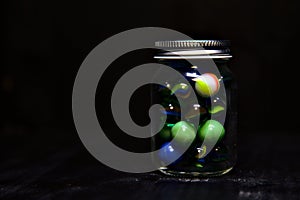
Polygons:
<instances>
[{"instance_id":1,"label":"clear glass jar of marbles with ridged silver metal lid","mask_svg":"<svg viewBox=\"0 0 300 200\"><path fill-rule=\"evenodd\" d=\"M165 116L160 116L162 129L152 141L153 149L161 149L161 172L218 176L229 172L236 163L237 89L228 68L232 57L229 45L224 40L156 42L164 50L154 58L182 75L169 76L165 85L155 85L152 90L152 100L164 108L161 112ZM189 100L193 93L197 103ZM170 142L177 134L180 135L174 144L178 145L174 146ZM187 150L166 165L189 139L192 141Z\"/></svg>"}]
</instances>

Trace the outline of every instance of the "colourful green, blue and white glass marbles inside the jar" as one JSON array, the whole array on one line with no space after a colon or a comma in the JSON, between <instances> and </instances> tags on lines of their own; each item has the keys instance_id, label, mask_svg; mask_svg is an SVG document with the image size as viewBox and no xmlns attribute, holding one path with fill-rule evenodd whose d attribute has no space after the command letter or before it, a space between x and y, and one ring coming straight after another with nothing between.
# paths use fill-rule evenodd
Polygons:
<instances>
[{"instance_id":1,"label":"colourful green, blue and white glass marbles inside the jar","mask_svg":"<svg viewBox=\"0 0 300 200\"><path fill-rule=\"evenodd\" d=\"M191 78L191 85L194 88L190 88L188 84L185 83L173 85L166 83L166 86L162 88L162 104L165 104L165 114L170 118L159 133L159 145L167 146L167 148L161 148L162 150L159 155L162 161L172 160L178 155L176 149L170 145L172 139L179 145L185 145L187 142L194 140L194 144L191 147L192 150L187 152L193 155L188 156L192 156L193 159L197 161L204 162L205 160L203 158L206 155L206 146L201 145L204 139L206 141L217 141L217 143L219 143L225 136L224 126L219 121L211 119L210 117L212 114L224 112L225 104L217 104L213 107L207 106L208 104L205 103L204 105L195 104L193 108L185 114L185 120L180 118L181 113L177 98L188 98L191 94L191 90L196 92L200 101L211 101L213 97L215 97L214 101L221 101L221 99L217 97L220 89L220 79L218 79L215 74L204 73ZM176 96L176 98L172 98L172 96ZM199 126L195 127L193 123L189 122L189 119L197 115L201 115L201 120ZM218 150L218 148L215 150ZM200 163L201 162L196 162L196 167L203 167ZM176 162L174 164L176 164Z\"/></svg>"}]
</instances>

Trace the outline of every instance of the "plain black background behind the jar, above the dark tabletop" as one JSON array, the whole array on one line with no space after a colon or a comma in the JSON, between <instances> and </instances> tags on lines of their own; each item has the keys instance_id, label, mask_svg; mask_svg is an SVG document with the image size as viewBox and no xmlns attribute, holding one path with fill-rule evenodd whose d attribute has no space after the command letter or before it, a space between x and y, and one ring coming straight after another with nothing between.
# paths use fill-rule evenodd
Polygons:
<instances>
[{"instance_id":1,"label":"plain black background behind the jar, above the dark tabletop","mask_svg":"<svg viewBox=\"0 0 300 200\"><path fill-rule=\"evenodd\" d=\"M77 70L106 38L147 26L174 29L194 39L231 40L234 58L230 66L239 86L239 134L248 135L242 141L253 148L260 143L251 138L263 134L269 138L266 141L278 142L269 143L274 151L283 144L291 146L291 152L299 151L299 1L11 0L1 4L0 158L6 166L1 169L17 165L21 169L26 164L7 159L16 156L27 162L33 159L30 153L48 152L49 148L50 155L61 146L77 145L85 152L72 119ZM266 153L259 154L261 161L271 159L271 150L263 149ZM247 149L242 152L248 154ZM90 156L87 152L83 155ZM257 157L251 154L248 158ZM298 164L292 160L290 165L299 175ZM274 166L271 159L261 169L269 166L267 163ZM289 171L287 165L278 168ZM23 183L23 179L6 176L14 172L0 176L3 187L14 180Z\"/></svg>"}]
</instances>

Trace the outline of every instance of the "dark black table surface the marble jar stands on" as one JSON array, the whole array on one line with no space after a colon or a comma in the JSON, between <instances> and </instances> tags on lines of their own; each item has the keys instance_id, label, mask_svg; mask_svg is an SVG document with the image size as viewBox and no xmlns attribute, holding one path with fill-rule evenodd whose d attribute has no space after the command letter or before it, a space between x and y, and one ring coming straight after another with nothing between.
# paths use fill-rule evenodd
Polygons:
<instances>
[{"instance_id":1,"label":"dark black table surface the marble jar stands on","mask_svg":"<svg viewBox=\"0 0 300 200\"><path fill-rule=\"evenodd\" d=\"M0 137L0 199L300 199L297 134L240 134L235 168L202 179L119 172L56 135Z\"/></svg>"}]
</instances>

